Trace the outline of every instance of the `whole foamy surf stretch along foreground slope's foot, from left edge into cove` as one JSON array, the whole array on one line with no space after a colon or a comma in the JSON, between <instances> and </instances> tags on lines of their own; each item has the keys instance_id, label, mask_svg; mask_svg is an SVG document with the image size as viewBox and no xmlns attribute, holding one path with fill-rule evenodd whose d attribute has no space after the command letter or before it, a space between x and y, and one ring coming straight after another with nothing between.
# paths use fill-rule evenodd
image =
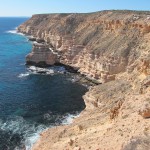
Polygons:
<instances>
[{"instance_id":1,"label":"whole foamy surf stretch along foreground slope's foot, from left edge into cove","mask_svg":"<svg viewBox=\"0 0 150 150\"><path fill-rule=\"evenodd\" d=\"M72 123L72 120L79 116L79 113L75 114L51 114L47 113L43 115L43 118L47 121L55 117L55 124L43 125L37 124L36 122L26 121L21 116L15 116L8 118L7 120L0 120L0 131L3 132L3 138L5 139L5 144L1 145L1 149L9 147L14 150L20 150L25 148L26 150L31 150L33 144L39 139L40 133L44 130L54 127L56 125L66 125ZM9 138L7 135L9 134ZM11 143L15 143L12 145Z\"/></svg>"}]
</instances>

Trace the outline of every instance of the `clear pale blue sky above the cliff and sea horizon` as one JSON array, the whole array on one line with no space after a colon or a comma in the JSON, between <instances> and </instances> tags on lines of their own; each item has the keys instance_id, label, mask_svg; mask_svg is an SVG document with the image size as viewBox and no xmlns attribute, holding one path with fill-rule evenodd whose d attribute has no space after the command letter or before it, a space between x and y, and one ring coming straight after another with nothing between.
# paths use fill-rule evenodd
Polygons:
<instances>
[{"instance_id":1,"label":"clear pale blue sky above the cliff and sea horizon","mask_svg":"<svg viewBox=\"0 0 150 150\"><path fill-rule=\"evenodd\" d=\"M100 10L150 10L150 0L0 0L0 16L85 13Z\"/></svg>"}]
</instances>

